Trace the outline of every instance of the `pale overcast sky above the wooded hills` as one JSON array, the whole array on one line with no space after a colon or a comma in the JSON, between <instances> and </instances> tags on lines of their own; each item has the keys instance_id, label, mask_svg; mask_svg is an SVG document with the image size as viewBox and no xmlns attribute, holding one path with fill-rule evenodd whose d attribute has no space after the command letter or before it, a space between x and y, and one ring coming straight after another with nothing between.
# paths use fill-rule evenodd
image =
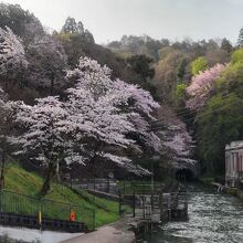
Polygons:
<instances>
[{"instance_id":1,"label":"pale overcast sky above the wooded hills","mask_svg":"<svg viewBox=\"0 0 243 243\"><path fill-rule=\"evenodd\" d=\"M123 34L155 39L228 38L236 42L243 27L243 0L4 0L19 3L51 29L70 17L81 20L97 43Z\"/></svg>"}]
</instances>

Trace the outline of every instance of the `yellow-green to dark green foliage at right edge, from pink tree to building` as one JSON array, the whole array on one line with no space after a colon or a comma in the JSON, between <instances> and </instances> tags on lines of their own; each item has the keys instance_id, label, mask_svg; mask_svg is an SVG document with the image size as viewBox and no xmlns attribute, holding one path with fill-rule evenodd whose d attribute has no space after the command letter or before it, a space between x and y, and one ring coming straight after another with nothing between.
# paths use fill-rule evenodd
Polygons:
<instances>
[{"instance_id":1,"label":"yellow-green to dark green foliage at right edge, from pink tree to building","mask_svg":"<svg viewBox=\"0 0 243 243\"><path fill-rule=\"evenodd\" d=\"M225 145L243 139L243 49L232 54L198 125L200 158L208 171L223 171Z\"/></svg>"}]
</instances>

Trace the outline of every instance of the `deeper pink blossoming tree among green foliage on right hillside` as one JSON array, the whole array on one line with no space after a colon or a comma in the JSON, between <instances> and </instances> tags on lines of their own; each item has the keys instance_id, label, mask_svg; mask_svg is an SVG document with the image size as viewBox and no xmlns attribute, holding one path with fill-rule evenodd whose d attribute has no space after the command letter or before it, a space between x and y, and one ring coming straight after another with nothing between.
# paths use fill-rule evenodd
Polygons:
<instances>
[{"instance_id":1,"label":"deeper pink blossoming tree among green foliage on right hillside","mask_svg":"<svg viewBox=\"0 0 243 243\"><path fill-rule=\"evenodd\" d=\"M192 82L187 88L189 99L186 105L189 109L199 112L204 107L214 88L215 81L225 67L223 64L216 64L192 77Z\"/></svg>"}]
</instances>

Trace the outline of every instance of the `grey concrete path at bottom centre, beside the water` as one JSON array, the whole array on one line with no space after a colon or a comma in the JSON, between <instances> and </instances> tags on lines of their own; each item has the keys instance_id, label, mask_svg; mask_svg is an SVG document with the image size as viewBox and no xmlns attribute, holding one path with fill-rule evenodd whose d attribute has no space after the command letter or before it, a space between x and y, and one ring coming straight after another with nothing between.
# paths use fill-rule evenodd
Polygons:
<instances>
[{"instance_id":1,"label":"grey concrete path at bottom centre, beside the water","mask_svg":"<svg viewBox=\"0 0 243 243\"><path fill-rule=\"evenodd\" d=\"M92 233L64 241L63 243L134 243L135 233L130 230L134 219L122 219L115 223L102 226Z\"/></svg>"}]
</instances>

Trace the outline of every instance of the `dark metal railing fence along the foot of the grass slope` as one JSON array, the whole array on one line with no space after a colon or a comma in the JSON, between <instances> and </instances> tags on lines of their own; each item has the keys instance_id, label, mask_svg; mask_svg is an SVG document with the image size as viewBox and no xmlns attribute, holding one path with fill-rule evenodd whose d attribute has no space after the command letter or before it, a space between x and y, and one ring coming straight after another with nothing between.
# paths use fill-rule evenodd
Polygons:
<instances>
[{"instance_id":1,"label":"dark metal railing fence along the foot of the grass slope","mask_svg":"<svg viewBox=\"0 0 243 243\"><path fill-rule=\"evenodd\" d=\"M95 228L95 211L83 204L59 202L41 199L8 190L0 192L0 212L18 213L43 219L70 220L71 211L75 213L75 221L83 222L89 230Z\"/></svg>"}]
</instances>

